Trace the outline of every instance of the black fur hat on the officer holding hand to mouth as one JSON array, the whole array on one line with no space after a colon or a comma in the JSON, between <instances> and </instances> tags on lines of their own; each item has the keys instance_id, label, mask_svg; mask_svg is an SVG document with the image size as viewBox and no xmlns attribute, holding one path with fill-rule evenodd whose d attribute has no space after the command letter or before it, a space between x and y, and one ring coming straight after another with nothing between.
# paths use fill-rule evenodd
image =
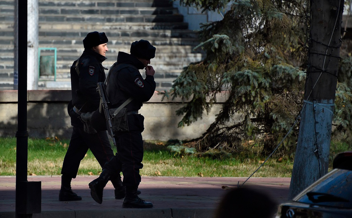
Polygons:
<instances>
[{"instance_id":1,"label":"black fur hat on the officer holding hand to mouth","mask_svg":"<svg viewBox=\"0 0 352 218\"><path fill-rule=\"evenodd\" d=\"M149 41L139 40L131 44L131 55L144 59L152 59L155 57L156 48L150 44Z\"/></svg>"}]
</instances>

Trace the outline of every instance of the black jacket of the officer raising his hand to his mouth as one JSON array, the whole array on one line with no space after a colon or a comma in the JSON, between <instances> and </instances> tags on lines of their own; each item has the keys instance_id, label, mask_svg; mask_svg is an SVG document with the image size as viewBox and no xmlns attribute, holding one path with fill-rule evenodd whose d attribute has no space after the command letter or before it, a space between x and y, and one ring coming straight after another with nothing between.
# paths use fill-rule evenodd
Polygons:
<instances>
[{"instance_id":1,"label":"black jacket of the officer raising his hand to his mouth","mask_svg":"<svg viewBox=\"0 0 352 218\"><path fill-rule=\"evenodd\" d=\"M119 52L117 62L114 64L132 64L137 69L143 69L143 63L136 57L125 52ZM112 70L107 83L106 92L110 101L110 108L119 107L128 98L132 97L127 106L127 111L136 111L142 107L143 102L149 101L155 92L154 77L147 75L143 79L139 70L133 67L122 68L121 70Z\"/></svg>"}]
</instances>

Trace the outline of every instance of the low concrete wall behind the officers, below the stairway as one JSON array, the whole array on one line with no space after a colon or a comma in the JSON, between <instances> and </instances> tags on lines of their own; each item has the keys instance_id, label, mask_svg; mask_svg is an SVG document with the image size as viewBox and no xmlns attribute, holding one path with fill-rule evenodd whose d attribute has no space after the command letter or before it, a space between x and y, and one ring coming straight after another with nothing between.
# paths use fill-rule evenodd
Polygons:
<instances>
[{"instance_id":1,"label":"low concrete wall behind the officers, below the stairway","mask_svg":"<svg viewBox=\"0 0 352 218\"><path fill-rule=\"evenodd\" d=\"M17 91L0 91L0 136L15 136L17 131ZM161 101L155 93L149 102L144 103L140 113L145 117L144 139L193 139L200 137L215 120L226 96L219 95L218 104L203 119L191 126L177 128L182 119L176 110L182 101L176 99ZM70 90L30 90L27 91L27 131L30 137L70 138L72 126L67 113L71 99Z\"/></svg>"}]
</instances>

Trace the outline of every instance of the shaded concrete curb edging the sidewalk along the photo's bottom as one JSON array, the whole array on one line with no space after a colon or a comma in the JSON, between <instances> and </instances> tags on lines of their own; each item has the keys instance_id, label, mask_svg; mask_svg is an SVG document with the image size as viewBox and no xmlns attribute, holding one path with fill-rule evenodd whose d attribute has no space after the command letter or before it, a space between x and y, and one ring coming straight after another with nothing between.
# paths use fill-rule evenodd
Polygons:
<instances>
[{"instance_id":1,"label":"shaded concrete curb edging the sidewalk along the photo's bottom","mask_svg":"<svg viewBox=\"0 0 352 218\"><path fill-rule=\"evenodd\" d=\"M212 218L213 208L151 208L151 209L112 209L112 210L76 210L42 211L33 214L33 218ZM15 212L0 212L1 218L15 218Z\"/></svg>"}]
</instances>

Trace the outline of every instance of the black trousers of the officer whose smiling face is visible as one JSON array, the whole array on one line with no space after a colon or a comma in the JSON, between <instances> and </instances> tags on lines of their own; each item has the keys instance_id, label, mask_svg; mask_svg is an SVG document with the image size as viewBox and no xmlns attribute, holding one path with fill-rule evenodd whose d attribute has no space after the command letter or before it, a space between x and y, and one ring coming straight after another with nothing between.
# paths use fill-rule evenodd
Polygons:
<instances>
[{"instance_id":1,"label":"black trousers of the officer whose smiling face is visible","mask_svg":"<svg viewBox=\"0 0 352 218\"><path fill-rule=\"evenodd\" d=\"M105 163L114 157L106 131L88 134L83 131L83 125L73 126L70 145L62 164L61 174L76 178L78 167L88 149L92 151L102 168Z\"/></svg>"}]
</instances>

